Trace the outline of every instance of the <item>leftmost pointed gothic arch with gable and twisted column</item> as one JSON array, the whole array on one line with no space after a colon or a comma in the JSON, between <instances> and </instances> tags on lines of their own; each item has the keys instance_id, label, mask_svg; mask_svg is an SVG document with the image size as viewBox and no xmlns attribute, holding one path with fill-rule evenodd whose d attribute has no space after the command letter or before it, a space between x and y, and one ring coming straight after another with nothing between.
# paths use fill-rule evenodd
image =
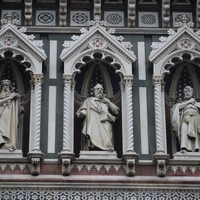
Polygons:
<instances>
[{"instance_id":1,"label":"leftmost pointed gothic arch with gable and twisted column","mask_svg":"<svg viewBox=\"0 0 200 200\"><path fill-rule=\"evenodd\" d=\"M26 137L24 156L27 153L40 153L40 116L42 62L46 59L42 41L34 41L33 35L26 35L26 28L18 29L12 15L2 20L0 30L0 78L14 81L15 89L22 96L24 120L28 127L21 128L21 137ZM12 75L6 72L11 71ZM12 80L11 80L12 81ZM30 83L31 84L30 84ZM28 86L27 86L28 85ZM27 120L28 119L28 120ZM26 129L26 131L25 131ZM26 136L24 136L24 131Z\"/></svg>"}]
</instances>

